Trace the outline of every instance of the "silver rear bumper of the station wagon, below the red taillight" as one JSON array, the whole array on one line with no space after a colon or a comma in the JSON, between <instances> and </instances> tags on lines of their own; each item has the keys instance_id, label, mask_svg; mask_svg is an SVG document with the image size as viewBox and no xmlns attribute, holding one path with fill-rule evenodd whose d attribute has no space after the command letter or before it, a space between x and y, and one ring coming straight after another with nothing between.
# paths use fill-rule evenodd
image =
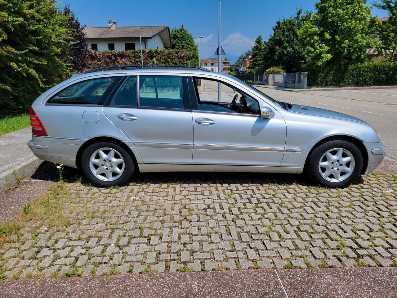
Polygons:
<instances>
[{"instance_id":1,"label":"silver rear bumper of the station wagon, below the red taillight","mask_svg":"<svg viewBox=\"0 0 397 298\"><path fill-rule=\"evenodd\" d=\"M77 168L76 155L81 143L83 140L33 136L27 145L39 159Z\"/></svg>"}]
</instances>

